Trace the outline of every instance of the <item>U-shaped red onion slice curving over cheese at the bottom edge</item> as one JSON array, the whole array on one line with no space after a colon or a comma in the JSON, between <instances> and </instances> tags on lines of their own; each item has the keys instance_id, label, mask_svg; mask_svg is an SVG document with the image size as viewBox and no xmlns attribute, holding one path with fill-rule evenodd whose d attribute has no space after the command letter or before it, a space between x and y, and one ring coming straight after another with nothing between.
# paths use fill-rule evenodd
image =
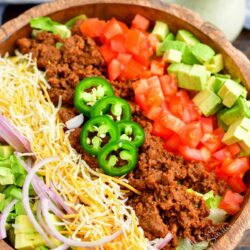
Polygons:
<instances>
[{"instance_id":1,"label":"U-shaped red onion slice curving over cheese at the bottom edge","mask_svg":"<svg viewBox=\"0 0 250 250\"><path fill-rule=\"evenodd\" d=\"M49 219L49 210L50 210L49 204L50 204L50 202L48 199L45 198L45 199L41 200L43 217L44 217L44 220L46 222L47 227L50 230L50 234L54 238L56 238L57 240L63 242L64 244L66 244L68 246L82 247L82 248L100 247L100 246L114 240L122 233L122 229L120 229L119 231L115 232L114 234L109 235L109 236L105 236L102 239L96 240L96 241L77 241L77 240L72 240L72 239L66 238L62 234L60 234L56 230L54 225L51 223L51 221Z\"/></svg>"}]
</instances>

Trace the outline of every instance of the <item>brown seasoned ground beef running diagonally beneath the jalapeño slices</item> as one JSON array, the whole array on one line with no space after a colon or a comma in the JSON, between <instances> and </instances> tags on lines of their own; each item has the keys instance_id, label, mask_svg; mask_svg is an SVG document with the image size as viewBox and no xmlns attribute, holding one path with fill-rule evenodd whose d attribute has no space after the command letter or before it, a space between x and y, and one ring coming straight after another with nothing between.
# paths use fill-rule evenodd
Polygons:
<instances>
[{"instance_id":1,"label":"brown seasoned ground beef running diagonally beneath the jalape\u00f1o slices","mask_svg":"<svg viewBox=\"0 0 250 250\"><path fill-rule=\"evenodd\" d=\"M31 52L37 59L38 67L46 71L52 87L49 95L53 103L57 104L59 96L62 96L64 107L59 115L64 123L78 114L73 106L76 84L87 76L107 78L107 69L95 42L80 34L79 23L73 27L72 33L72 37L64 40L42 32L35 39L17 41L19 50L22 53ZM63 43L60 49L56 48L58 42ZM139 150L137 168L128 176L130 185L142 193L139 196L131 194L128 204L135 209L146 237L152 240L171 232L173 240L165 249L172 249L177 246L178 238L201 241L220 234L227 224L213 225L207 219L209 209L203 199L186 190L192 188L200 193L213 190L215 194L223 195L225 182L208 173L201 163L184 161L164 149L162 139L151 134L151 122L134 103L131 81L111 84L117 96L129 101L134 121L141 124L146 134ZM82 150L80 133L81 128L71 132L69 140L72 147L91 167L98 168L96 158Z\"/></svg>"}]
</instances>

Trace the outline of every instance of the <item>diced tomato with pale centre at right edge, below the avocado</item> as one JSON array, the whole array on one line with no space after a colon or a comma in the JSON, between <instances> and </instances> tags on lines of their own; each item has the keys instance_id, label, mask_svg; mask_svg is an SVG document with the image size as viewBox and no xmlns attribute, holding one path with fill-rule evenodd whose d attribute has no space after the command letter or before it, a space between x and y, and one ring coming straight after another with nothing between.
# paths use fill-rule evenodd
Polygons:
<instances>
[{"instance_id":1,"label":"diced tomato with pale centre at right edge, below the avocado","mask_svg":"<svg viewBox=\"0 0 250 250\"><path fill-rule=\"evenodd\" d=\"M249 160L247 157L236 158L229 164L224 164L222 170L229 176L241 177L249 169Z\"/></svg>"}]
</instances>

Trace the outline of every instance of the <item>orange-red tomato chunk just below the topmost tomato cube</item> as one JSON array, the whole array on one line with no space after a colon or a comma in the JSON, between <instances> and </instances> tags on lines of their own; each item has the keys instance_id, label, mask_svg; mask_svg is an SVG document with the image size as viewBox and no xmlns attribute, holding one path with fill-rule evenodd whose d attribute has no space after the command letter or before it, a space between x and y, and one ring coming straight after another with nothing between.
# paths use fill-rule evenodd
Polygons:
<instances>
[{"instance_id":1,"label":"orange-red tomato chunk just below the topmost tomato cube","mask_svg":"<svg viewBox=\"0 0 250 250\"><path fill-rule=\"evenodd\" d=\"M125 48L132 54L138 55L140 52L141 44L144 40L145 35L141 31L130 29L125 36Z\"/></svg>"}]
</instances>

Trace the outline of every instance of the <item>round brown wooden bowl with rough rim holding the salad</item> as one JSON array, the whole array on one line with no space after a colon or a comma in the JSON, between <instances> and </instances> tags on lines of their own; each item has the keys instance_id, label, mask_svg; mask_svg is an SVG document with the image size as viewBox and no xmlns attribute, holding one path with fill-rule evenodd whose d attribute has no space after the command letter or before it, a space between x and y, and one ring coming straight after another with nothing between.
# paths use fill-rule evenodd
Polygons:
<instances>
[{"instance_id":1,"label":"round brown wooden bowl with rough rim holding the salad","mask_svg":"<svg viewBox=\"0 0 250 250\"><path fill-rule=\"evenodd\" d=\"M226 40L224 34L208 22L204 22L197 14L177 5L170 5L160 0L61 0L34 7L19 17L7 22L0 28L0 54L12 52L15 41L30 32L29 20L38 16L50 16L59 22L79 15L109 19L116 17L130 22L136 13L148 19L165 21L170 29L187 29L202 42L210 45L223 54L225 68L233 77L239 77L250 92L250 62L244 54L235 49ZM250 190L246 194L241 211L236 215L229 231L221 236L212 247L216 250L232 250L241 240L244 231L250 229ZM12 249L4 241L0 249Z\"/></svg>"}]
</instances>

